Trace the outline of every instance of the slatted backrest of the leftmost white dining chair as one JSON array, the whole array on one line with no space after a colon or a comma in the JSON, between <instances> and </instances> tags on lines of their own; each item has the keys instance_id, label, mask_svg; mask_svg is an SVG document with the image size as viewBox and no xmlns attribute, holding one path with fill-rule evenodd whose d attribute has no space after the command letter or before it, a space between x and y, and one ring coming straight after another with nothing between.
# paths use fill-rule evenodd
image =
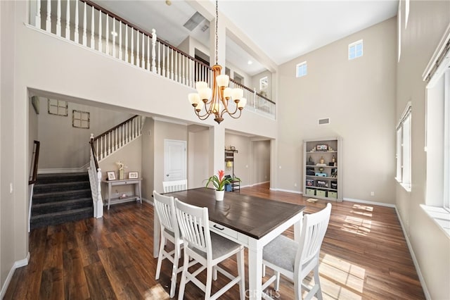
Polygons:
<instances>
[{"instance_id":1,"label":"slatted backrest of the leftmost white dining chair","mask_svg":"<svg viewBox=\"0 0 450 300\"><path fill-rule=\"evenodd\" d=\"M161 230L167 229L174 232L174 236L178 239L179 229L178 223L176 222L174 197L165 196L153 191L153 203L158 219L160 220Z\"/></svg>"}]
</instances>

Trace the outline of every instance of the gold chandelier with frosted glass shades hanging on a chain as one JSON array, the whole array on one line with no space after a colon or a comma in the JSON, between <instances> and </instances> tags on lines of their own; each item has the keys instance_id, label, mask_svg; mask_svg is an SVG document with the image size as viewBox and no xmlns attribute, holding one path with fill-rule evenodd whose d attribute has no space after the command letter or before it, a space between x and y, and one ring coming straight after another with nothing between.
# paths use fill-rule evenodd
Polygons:
<instances>
[{"instance_id":1,"label":"gold chandelier with frosted glass shades hanging on a chain","mask_svg":"<svg viewBox=\"0 0 450 300\"><path fill-rule=\"evenodd\" d=\"M231 118L239 118L245 104L247 104L247 99L243 97L243 89L228 87L230 81L228 75L221 75L222 67L219 65L217 58L218 20L219 12L216 0L216 64L212 66L212 88L208 87L207 82L195 82L197 92L188 94L188 100L200 120L206 120L210 115L214 115L214 121L220 124L224 120L225 113L228 113Z\"/></svg>"}]
</instances>

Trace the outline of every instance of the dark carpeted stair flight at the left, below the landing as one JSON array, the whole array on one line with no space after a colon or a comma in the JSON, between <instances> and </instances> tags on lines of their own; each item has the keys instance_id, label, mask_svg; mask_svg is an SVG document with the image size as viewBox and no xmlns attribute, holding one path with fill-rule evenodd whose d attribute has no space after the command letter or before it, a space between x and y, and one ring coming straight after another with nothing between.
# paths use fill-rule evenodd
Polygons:
<instances>
[{"instance_id":1,"label":"dark carpeted stair flight at the left, below the landing","mask_svg":"<svg viewBox=\"0 0 450 300\"><path fill-rule=\"evenodd\" d=\"M31 211L32 229L92 218L88 173L37 175Z\"/></svg>"}]
</instances>

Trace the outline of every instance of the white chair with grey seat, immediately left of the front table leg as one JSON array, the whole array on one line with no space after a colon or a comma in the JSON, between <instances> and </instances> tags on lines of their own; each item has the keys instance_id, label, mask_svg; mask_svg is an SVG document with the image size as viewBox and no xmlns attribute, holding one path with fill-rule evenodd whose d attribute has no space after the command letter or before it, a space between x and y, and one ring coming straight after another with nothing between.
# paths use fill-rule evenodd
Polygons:
<instances>
[{"instance_id":1,"label":"white chair with grey seat, immediately left of the front table leg","mask_svg":"<svg viewBox=\"0 0 450 300\"><path fill-rule=\"evenodd\" d=\"M244 247L236 242L226 239L221 235L210 232L208 208L198 207L175 199L176 219L179 223L181 235L184 240L184 267L181 273L181 281L178 299L184 297L184 289L189 281L205 292L205 299L218 299L236 283L239 284L240 299L245 299L245 272L244 272ZM238 275L233 276L221 268L218 263L236 254L238 263ZM202 266L190 273L188 260L200 263ZM198 280L197 276L206 269L206 285ZM231 280L224 287L211 295L212 280L219 273Z\"/></svg>"}]
</instances>

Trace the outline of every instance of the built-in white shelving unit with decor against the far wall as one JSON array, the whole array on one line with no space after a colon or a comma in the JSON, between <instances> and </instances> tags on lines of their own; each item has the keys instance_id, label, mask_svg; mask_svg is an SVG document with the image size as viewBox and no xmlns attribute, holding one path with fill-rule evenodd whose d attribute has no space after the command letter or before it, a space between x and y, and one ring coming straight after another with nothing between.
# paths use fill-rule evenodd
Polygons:
<instances>
[{"instance_id":1,"label":"built-in white shelving unit with decor against the far wall","mask_svg":"<svg viewBox=\"0 0 450 300\"><path fill-rule=\"evenodd\" d=\"M342 137L303 141L303 195L342 201Z\"/></svg>"}]
</instances>

